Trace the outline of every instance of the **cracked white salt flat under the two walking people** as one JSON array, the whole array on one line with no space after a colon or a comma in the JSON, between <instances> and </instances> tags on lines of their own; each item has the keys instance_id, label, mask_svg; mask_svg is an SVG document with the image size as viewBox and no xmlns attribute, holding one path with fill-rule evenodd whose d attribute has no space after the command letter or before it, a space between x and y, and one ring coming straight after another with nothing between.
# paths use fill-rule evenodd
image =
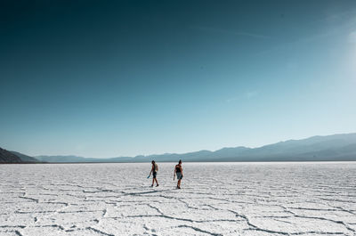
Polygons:
<instances>
[{"instance_id":1,"label":"cracked white salt flat under the two walking people","mask_svg":"<svg viewBox=\"0 0 356 236\"><path fill-rule=\"evenodd\" d=\"M0 166L0 235L356 235L356 163Z\"/></svg>"}]
</instances>

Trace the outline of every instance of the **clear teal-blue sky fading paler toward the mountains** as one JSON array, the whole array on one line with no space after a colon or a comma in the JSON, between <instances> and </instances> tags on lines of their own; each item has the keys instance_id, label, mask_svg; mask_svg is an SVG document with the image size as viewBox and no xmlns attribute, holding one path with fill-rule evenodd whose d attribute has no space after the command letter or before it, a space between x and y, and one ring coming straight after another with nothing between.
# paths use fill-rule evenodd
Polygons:
<instances>
[{"instance_id":1,"label":"clear teal-blue sky fading paler toward the mountains","mask_svg":"<svg viewBox=\"0 0 356 236\"><path fill-rule=\"evenodd\" d=\"M356 132L356 1L0 3L0 147L93 158Z\"/></svg>"}]
</instances>

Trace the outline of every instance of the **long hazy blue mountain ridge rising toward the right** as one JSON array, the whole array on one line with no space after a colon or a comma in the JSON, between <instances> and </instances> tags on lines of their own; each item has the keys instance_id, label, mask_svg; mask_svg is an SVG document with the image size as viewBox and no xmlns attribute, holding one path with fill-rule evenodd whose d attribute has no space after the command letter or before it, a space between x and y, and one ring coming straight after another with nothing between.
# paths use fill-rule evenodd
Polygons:
<instances>
[{"instance_id":1,"label":"long hazy blue mountain ridge rising toward the right","mask_svg":"<svg viewBox=\"0 0 356 236\"><path fill-rule=\"evenodd\" d=\"M218 151L194 151L183 154L87 159L77 156L38 156L47 162L147 162L157 161L321 161L356 160L356 133L312 136L302 140L288 140L259 148L223 148Z\"/></svg>"}]
</instances>

